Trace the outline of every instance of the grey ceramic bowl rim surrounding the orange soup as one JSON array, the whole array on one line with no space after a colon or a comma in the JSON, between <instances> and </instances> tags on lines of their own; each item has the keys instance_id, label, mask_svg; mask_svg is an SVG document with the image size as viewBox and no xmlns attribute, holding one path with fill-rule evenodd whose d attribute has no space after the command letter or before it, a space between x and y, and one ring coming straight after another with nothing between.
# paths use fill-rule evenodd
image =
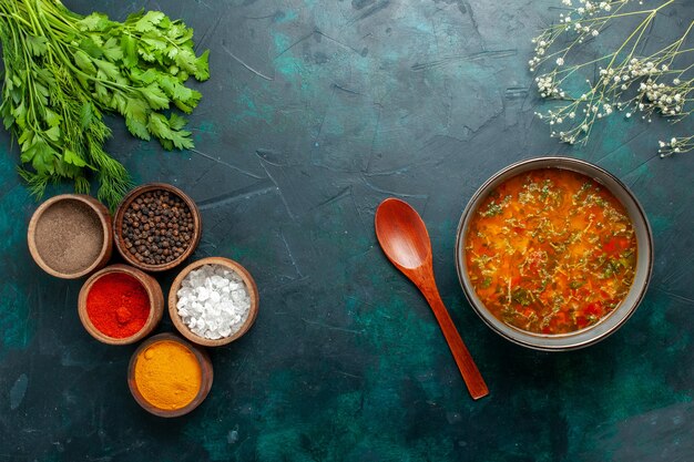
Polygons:
<instances>
[{"instance_id":1,"label":"grey ceramic bowl rim surrounding the orange soup","mask_svg":"<svg viewBox=\"0 0 694 462\"><path fill-rule=\"evenodd\" d=\"M614 196L626 208L626 212L632 220L634 232L636 233L637 243L637 260L634 281L622 304L620 304L610 315L605 316L595 325L575 332L560 335L533 333L509 326L497 319L484 307L470 283L465 249L465 237L468 233L470 220L472 219L473 213L478 209L479 205L488 196L488 194L500 183L512 176L523 172L547 167L565 168L582 173L610 189L610 192L612 192L612 194L614 194ZM538 350L563 351L582 348L595 343L618 330L629 319L629 317L633 315L634 310L643 299L651 278L652 266L653 235L651 233L651 226L649 225L646 215L634 195L622 182L609 172L588 162L568 157L530 158L510 165L494 174L477 191L477 193L474 193L462 213L462 217L460 218L456 237L456 267L458 269L458 278L460 279L462 289L466 297L470 301L470 305L472 305L472 308L474 308L480 318L482 318L482 320L493 331L503 338L523 347L534 348Z\"/></svg>"}]
</instances>

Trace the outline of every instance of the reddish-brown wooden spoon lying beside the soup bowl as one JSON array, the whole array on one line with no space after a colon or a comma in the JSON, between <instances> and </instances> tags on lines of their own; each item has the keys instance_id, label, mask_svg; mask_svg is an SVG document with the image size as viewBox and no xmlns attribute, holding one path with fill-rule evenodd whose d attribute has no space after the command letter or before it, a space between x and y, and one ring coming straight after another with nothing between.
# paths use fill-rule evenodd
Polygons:
<instances>
[{"instance_id":1,"label":"reddish-brown wooden spoon lying beside the soup bowl","mask_svg":"<svg viewBox=\"0 0 694 462\"><path fill-rule=\"evenodd\" d=\"M376 237L390 263L415 283L429 302L472 399L489 394L480 371L441 301L433 279L429 233L417 211L406 202L392 197L385 199L376 211Z\"/></svg>"}]
</instances>

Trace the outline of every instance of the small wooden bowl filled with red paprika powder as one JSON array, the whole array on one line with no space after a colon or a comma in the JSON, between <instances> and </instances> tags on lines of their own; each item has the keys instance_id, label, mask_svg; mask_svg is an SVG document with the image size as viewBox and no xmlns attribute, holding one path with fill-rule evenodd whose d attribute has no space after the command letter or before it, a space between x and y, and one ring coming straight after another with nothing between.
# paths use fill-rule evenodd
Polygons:
<instances>
[{"instance_id":1,"label":"small wooden bowl filled with red paprika powder","mask_svg":"<svg viewBox=\"0 0 694 462\"><path fill-rule=\"evenodd\" d=\"M111 265L84 283L78 311L84 329L96 340L129 345L146 337L161 321L164 295L152 276L127 265Z\"/></svg>"}]
</instances>

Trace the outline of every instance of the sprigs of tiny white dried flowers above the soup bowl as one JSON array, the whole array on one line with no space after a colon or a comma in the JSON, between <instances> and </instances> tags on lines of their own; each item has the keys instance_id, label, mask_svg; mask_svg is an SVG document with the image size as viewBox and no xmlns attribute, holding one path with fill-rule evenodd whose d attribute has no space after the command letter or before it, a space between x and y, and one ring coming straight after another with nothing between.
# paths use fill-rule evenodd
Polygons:
<instances>
[{"instance_id":1,"label":"sprigs of tiny white dried flowers above the soup bowl","mask_svg":"<svg viewBox=\"0 0 694 462\"><path fill-rule=\"evenodd\" d=\"M680 122L692 113L694 48L691 42L683 47L694 28L692 18L680 39L650 55L637 53L655 16L675 0L656 3L643 9L643 1L635 0L562 0L568 8L560 14L559 23L532 40L534 55L528 62L531 72L549 69L535 78L540 96L562 102L553 110L535 112L552 126L552 136L571 144L585 143L593 125L615 112L627 119L637 114L647 122L653 114ZM627 17L642 21L616 50L594 60L568 64L573 58L572 51L589 40L596 40L611 21ZM593 80L584 81L585 90L580 94L564 90L573 80L581 79L578 71L588 66L596 68L598 72ZM693 136L684 136L661 141L659 152L665 157L692 148Z\"/></svg>"}]
</instances>

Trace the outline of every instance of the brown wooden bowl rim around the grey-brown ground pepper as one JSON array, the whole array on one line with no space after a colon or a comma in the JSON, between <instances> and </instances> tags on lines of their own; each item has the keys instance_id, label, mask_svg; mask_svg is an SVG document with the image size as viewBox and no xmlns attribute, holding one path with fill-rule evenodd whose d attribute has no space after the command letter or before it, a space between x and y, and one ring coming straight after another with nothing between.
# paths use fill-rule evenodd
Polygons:
<instances>
[{"instance_id":1,"label":"brown wooden bowl rim around the grey-brown ground pepper","mask_svg":"<svg viewBox=\"0 0 694 462\"><path fill-rule=\"evenodd\" d=\"M49 211L52 206L59 205L59 203L68 201L75 201L90 207L94 212L95 216L99 218L99 223L101 224L103 233L103 244L94 261L88 267L74 273L60 271L49 266L44 257L41 256L39 251L39 246L37 245L35 240L39 222L41 220L45 212ZM109 213L109 209L105 205L103 205L92 196L88 196L85 194L61 194L45 201L33 213L31 220L29 222L27 242L29 245L29 253L31 254L31 257L37 263L37 265L41 267L41 269L43 269L49 275L59 278L76 279L86 276L99 268L103 268L111 258L111 254L113 253L113 229L111 227L111 214Z\"/></svg>"}]
</instances>

